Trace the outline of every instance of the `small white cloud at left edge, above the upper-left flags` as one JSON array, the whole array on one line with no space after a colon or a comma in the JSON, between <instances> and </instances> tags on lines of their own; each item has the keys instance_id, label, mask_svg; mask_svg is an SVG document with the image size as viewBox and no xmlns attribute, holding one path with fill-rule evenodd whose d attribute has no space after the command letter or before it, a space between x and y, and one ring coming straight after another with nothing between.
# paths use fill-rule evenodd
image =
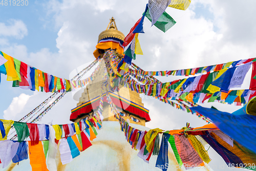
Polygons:
<instances>
[{"instance_id":1,"label":"small white cloud at left edge, above the upper-left flags","mask_svg":"<svg viewBox=\"0 0 256 171\"><path fill-rule=\"evenodd\" d=\"M7 25L0 23L0 36L13 36L17 39L22 39L28 34L27 26L22 20L9 19L7 23Z\"/></svg>"}]
</instances>

